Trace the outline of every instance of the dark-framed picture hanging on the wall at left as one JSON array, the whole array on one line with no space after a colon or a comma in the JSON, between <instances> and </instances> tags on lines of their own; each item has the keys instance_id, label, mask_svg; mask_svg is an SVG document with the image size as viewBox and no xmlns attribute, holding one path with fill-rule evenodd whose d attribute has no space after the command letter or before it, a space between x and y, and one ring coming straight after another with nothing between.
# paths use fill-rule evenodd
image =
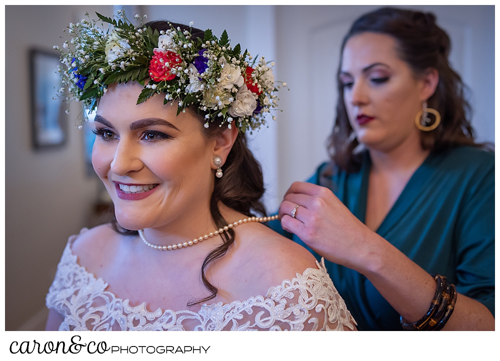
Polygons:
<instances>
[{"instance_id":1,"label":"dark-framed picture hanging on the wall at left","mask_svg":"<svg viewBox=\"0 0 500 361\"><path fill-rule=\"evenodd\" d=\"M29 73L31 86L31 128L34 148L58 147L67 139L64 104L54 99L61 77L57 72L59 55L55 52L31 49Z\"/></svg>"}]
</instances>

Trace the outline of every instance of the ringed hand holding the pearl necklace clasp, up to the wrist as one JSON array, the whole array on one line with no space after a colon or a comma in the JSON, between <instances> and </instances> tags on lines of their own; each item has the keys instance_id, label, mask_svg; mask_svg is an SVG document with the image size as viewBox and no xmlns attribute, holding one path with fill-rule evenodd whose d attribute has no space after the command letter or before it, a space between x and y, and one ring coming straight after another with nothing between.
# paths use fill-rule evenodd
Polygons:
<instances>
[{"instance_id":1,"label":"ringed hand holding the pearl necklace clasp, up to the wrist","mask_svg":"<svg viewBox=\"0 0 500 361\"><path fill-rule=\"evenodd\" d=\"M293 218L291 212L297 205ZM285 231L297 235L316 253L355 270L369 259L368 246L378 241L328 188L311 183L290 186L279 207L279 218Z\"/></svg>"}]
</instances>

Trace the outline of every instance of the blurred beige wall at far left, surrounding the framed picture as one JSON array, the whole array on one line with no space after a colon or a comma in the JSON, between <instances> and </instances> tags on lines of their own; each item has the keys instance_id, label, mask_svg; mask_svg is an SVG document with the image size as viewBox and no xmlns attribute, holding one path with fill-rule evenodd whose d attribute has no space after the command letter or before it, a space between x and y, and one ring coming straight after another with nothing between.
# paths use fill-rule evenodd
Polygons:
<instances>
[{"instance_id":1,"label":"blurred beige wall at far left, surrounding the framed picture","mask_svg":"<svg viewBox=\"0 0 500 361\"><path fill-rule=\"evenodd\" d=\"M43 310L67 237L86 225L96 199L98 179L85 175L75 127L77 104L65 146L31 148L28 75L28 49L61 46L67 24L92 10L112 14L112 6L5 6L5 330Z\"/></svg>"}]
</instances>

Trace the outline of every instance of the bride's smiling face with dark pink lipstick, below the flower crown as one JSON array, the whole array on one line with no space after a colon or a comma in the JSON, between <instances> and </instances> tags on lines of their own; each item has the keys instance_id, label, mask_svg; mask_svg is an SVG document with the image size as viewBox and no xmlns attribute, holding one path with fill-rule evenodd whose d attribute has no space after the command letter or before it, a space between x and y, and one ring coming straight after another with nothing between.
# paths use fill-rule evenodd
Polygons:
<instances>
[{"instance_id":1,"label":"bride's smiling face with dark pink lipstick, below the flower crown","mask_svg":"<svg viewBox=\"0 0 500 361\"><path fill-rule=\"evenodd\" d=\"M200 214L213 189L215 140L195 115L153 96L136 105L138 83L110 86L95 116L92 165L120 226L162 228ZM142 190L140 190L142 188ZM182 223L182 221L180 221Z\"/></svg>"}]
</instances>

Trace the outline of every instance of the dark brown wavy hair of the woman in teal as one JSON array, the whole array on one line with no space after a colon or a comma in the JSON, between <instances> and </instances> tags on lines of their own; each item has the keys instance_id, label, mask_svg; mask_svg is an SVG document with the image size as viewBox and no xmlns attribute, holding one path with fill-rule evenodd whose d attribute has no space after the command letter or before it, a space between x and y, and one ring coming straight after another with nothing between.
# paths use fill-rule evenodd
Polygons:
<instances>
[{"instance_id":1,"label":"dark brown wavy hair of the woman in teal","mask_svg":"<svg viewBox=\"0 0 500 361\"><path fill-rule=\"evenodd\" d=\"M471 108L464 99L464 90L467 89L460 76L449 65L450 40L446 32L437 26L434 14L383 7L355 20L342 41L337 72L337 114L327 145L336 166L346 172L357 172L361 164L361 154L354 151L359 143L351 136L352 128L338 76L345 43L362 32L387 34L395 38L400 58L417 76L428 68L437 69L439 81L436 91L427 100L427 106L441 114L441 123L432 131L420 132L423 149L441 152L458 145L487 147L474 142L474 132L467 120L471 115Z\"/></svg>"}]
</instances>

